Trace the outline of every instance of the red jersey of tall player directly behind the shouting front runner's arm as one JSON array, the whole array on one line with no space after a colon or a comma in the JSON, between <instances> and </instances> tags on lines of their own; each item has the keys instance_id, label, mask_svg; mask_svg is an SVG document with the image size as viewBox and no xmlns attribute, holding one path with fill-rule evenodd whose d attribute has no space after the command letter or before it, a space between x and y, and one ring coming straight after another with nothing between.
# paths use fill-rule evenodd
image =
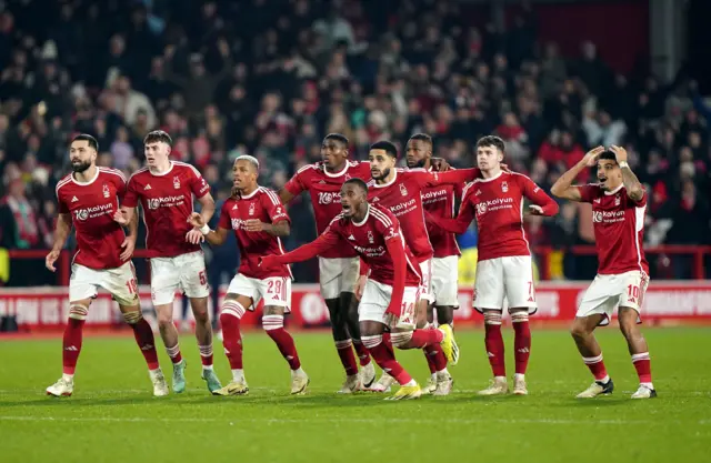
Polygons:
<instances>
[{"instance_id":1,"label":"red jersey of tall player directly behind the shouting front runner's arm","mask_svg":"<svg viewBox=\"0 0 711 463\"><path fill-rule=\"evenodd\" d=\"M343 187L343 182L352 178L368 181L370 164L349 161L346 163L346 168L338 173L328 172L322 162L304 165L287 182L284 189L293 195L298 195L302 191L309 192L316 215L316 230L318 234L321 234L333 218L341 213L341 187ZM350 246L333 246L321 256L336 259L356 255L356 251Z\"/></svg>"}]
</instances>

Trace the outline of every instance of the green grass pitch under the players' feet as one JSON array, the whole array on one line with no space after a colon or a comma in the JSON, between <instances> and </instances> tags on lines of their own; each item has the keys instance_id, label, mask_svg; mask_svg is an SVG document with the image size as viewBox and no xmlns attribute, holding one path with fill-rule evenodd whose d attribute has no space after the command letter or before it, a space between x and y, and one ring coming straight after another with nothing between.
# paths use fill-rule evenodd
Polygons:
<instances>
[{"instance_id":1,"label":"green grass pitch under the players' feet","mask_svg":"<svg viewBox=\"0 0 711 463\"><path fill-rule=\"evenodd\" d=\"M507 329L511 375L511 330ZM244 340L250 395L208 395L194 338L183 336L188 390L153 397L133 340L84 339L74 394L44 387L61 374L61 340L0 344L0 454L7 462L342 462L391 460L505 462L703 461L711 444L710 329L644 329L655 400L632 401L638 381L619 331L599 330L614 394L580 401L591 383L564 331L533 332L530 395L477 397L490 370L483 334L458 333L460 364L448 397L387 402L383 395L334 394L343 376L326 333L297 333L308 395L290 396L288 365L261 332ZM160 342L157 339L157 342ZM162 345L162 344L161 344ZM419 351L398 352L424 383ZM171 365L161 352L170 382ZM221 345L216 370L230 373ZM512 383L512 382L511 382Z\"/></svg>"}]
</instances>

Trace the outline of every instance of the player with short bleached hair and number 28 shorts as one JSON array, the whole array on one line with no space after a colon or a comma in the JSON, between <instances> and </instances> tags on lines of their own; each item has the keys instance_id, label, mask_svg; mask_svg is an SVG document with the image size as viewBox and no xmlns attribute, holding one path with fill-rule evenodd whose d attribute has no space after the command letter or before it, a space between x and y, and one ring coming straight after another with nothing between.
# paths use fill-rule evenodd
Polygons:
<instances>
[{"instance_id":1,"label":"player with short bleached hair and number 28 shorts","mask_svg":"<svg viewBox=\"0 0 711 463\"><path fill-rule=\"evenodd\" d=\"M217 230L210 230L202 215L192 213L190 224L212 245L227 240L234 231L240 248L239 273L232 279L222 302L220 323L224 353L232 369L232 381L216 391L218 395L244 395L249 392L242 369L242 335L240 320L247 310L254 310L264 300L262 326L291 368L291 393L306 393L309 376L301 369L297 346L284 330L284 313L291 308L291 271L288 265L266 270L258 265L262 255L283 254L280 236L290 232L289 215L272 190L257 183L259 161L251 155L240 155L232 167L232 197L222 205ZM193 242L202 238L188 236Z\"/></svg>"}]
</instances>

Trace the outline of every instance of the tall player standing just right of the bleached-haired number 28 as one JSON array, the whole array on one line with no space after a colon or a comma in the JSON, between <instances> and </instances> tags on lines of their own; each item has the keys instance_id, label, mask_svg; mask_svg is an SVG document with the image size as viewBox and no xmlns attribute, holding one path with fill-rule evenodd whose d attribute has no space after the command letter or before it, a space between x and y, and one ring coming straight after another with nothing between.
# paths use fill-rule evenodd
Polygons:
<instances>
[{"instance_id":1,"label":"tall player standing just right of the bleached-haired number 28","mask_svg":"<svg viewBox=\"0 0 711 463\"><path fill-rule=\"evenodd\" d=\"M343 182L351 178L370 177L368 162L348 160L348 139L342 134L329 133L321 143L323 161L301 168L279 191L279 198L284 204L302 191L309 192L319 234L323 233L333 218L341 212L340 194ZM319 255L321 296L329 309L336 350L346 370L346 382L338 391L342 394L368 389L375 381L375 369L368 350L360 341L358 300L353 294L359 269L360 259L351 246L333 246ZM356 349L360 359L360 376L351 346Z\"/></svg>"}]
</instances>

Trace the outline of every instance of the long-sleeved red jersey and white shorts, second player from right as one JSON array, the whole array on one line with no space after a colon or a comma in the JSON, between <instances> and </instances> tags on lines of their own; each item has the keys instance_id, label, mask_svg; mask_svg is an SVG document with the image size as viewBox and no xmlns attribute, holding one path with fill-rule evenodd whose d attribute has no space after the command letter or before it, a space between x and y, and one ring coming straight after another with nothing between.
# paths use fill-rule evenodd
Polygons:
<instances>
[{"instance_id":1,"label":"long-sleeved red jersey and white shorts, second player from right","mask_svg":"<svg viewBox=\"0 0 711 463\"><path fill-rule=\"evenodd\" d=\"M458 222L475 218L479 229L479 260L472 304L477 310L529 308L535 313L531 250L523 231L523 199L543 210L558 212L558 204L531 179L501 172L492 179L477 179L464 188Z\"/></svg>"}]
</instances>

